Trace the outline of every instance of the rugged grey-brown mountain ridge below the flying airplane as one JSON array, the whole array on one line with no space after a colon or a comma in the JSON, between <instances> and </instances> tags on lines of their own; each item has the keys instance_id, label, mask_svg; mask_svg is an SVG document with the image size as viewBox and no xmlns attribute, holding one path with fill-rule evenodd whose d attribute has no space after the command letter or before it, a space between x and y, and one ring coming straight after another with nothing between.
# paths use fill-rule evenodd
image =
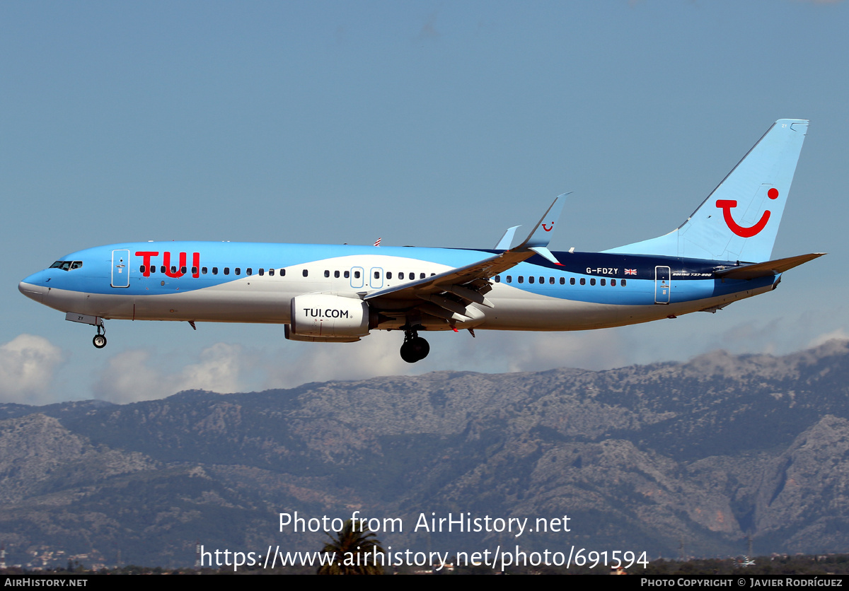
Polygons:
<instances>
[{"instance_id":1,"label":"rugged grey-brown mountain ridge below the flying airplane","mask_svg":"<svg viewBox=\"0 0 849 591\"><path fill-rule=\"evenodd\" d=\"M685 363L312 382L131 404L0 405L0 538L110 564L194 542L318 549L278 512L563 516L582 544L677 556L849 544L849 343ZM383 534L396 547L495 533ZM505 538L506 539L506 538ZM503 540L504 541L504 540ZM257 548L254 546L258 544Z\"/></svg>"}]
</instances>

